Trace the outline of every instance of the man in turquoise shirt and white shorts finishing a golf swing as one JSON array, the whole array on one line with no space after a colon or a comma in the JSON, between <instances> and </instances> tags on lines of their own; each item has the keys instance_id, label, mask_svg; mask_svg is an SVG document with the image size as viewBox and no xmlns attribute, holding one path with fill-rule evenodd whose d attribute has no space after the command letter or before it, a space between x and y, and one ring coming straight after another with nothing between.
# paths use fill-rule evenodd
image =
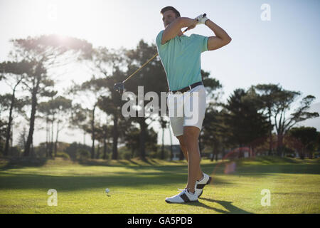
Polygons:
<instances>
[{"instance_id":1,"label":"man in turquoise shirt and white shorts finishing a golf swing","mask_svg":"<svg viewBox=\"0 0 320 228\"><path fill-rule=\"evenodd\" d=\"M199 16L197 19L181 17L172 6L164 7L160 13L165 29L156 36L156 46L166 71L170 90L168 95L170 123L188 161L186 188L178 195L166 198L166 202L193 202L198 200L203 187L211 180L211 177L201 170L198 147L198 138L206 112L206 89L201 77L201 53L221 48L230 43L231 38L223 28L207 17ZM181 32L181 28L187 27L190 30L197 24L205 24L215 33L215 36L206 37L197 34L185 36ZM196 121L188 121L184 112L182 116L171 116L170 113L176 113L179 107L183 106L184 110L186 100L190 104L195 98L197 106L193 108L192 115L196 116Z\"/></svg>"}]
</instances>

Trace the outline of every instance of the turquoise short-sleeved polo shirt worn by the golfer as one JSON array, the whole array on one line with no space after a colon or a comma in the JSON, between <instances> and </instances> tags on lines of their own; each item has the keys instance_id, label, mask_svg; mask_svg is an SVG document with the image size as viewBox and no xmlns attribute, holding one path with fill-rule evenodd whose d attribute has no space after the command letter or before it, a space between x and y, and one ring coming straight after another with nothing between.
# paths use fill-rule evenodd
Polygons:
<instances>
[{"instance_id":1,"label":"turquoise short-sleeved polo shirt worn by the golfer","mask_svg":"<svg viewBox=\"0 0 320 228\"><path fill-rule=\"evenodd\" d=\"M162 33L156 36L156 46L166 71L169 90L180 90L202 81L201 53L208 51L208 36L191 34L176 36L161 44Z\"/></svg>"}]
</instances>

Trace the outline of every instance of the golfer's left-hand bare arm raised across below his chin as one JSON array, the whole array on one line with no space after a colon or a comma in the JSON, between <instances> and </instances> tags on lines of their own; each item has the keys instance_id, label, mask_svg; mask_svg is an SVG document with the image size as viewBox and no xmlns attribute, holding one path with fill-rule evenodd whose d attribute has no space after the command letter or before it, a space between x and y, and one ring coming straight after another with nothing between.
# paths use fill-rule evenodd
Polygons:
<instances>
[{"instance_id":1,"label":"golfer's left-hand bare arm raised across below his chin","mask_svg":"<svg viewBox=\"0 0 320 228\"><path fill-rule=\"evenodd\" d=\"M195 19L189 19L188 17L178 17L176 20L172 21L166 29L164 29L164 33L162 33L161 44L170 41L171 38L174 38L181 31L181 28L188 27L189 29L196 27L198 21Z\"/></svg>"}]
</instances>

